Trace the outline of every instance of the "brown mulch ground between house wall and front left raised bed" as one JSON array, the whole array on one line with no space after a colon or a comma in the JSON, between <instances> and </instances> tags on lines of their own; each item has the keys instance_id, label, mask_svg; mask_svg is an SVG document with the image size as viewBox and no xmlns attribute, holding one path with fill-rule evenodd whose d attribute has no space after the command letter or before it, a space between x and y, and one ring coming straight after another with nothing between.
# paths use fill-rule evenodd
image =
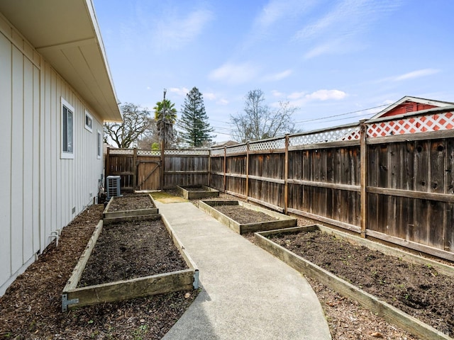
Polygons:
<instances>
[{"instance_id":1,"label":"brown mulch ground between house wall and front left raised bed","mask_svg":"<svg viewBox=\"0 0 454 340\"><path fill-rule=\"evenodd\" d=\"M0 297L0 339L161 339L197 295L153 295L61 312L62 290L101 219L92 205Z\"/></svg>"}]
</instances>

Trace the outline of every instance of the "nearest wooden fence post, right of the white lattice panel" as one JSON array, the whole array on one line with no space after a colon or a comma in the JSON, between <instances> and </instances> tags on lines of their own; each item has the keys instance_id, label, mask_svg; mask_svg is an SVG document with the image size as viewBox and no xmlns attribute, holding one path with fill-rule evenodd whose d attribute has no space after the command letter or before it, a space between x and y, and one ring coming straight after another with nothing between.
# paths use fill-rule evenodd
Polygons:
<instances>
[{"instance_id":1,"label":"nearest wooden fence post, right of the white lattice panel","mask_svg":"<svg viewBox=\"0 0 454 340\"><path fill-rule=\"evenodd\" d=\"M367 125L365 120L360 120L360 212L361 212L361 237L366 237L367 228Z\"/></svg>"}]
</instances>

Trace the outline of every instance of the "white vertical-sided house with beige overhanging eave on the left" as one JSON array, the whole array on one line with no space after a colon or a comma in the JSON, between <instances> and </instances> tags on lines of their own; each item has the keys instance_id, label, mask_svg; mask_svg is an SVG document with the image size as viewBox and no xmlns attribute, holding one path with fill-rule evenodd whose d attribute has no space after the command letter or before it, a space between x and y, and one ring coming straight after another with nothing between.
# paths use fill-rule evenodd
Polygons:
<instances>
[{"instance_id":1,"label":"white vertical-sided house with beige overhanging eave on the left","mask_svg":"<svg viewBox=\"0 0 454 340\"><path fill-rule=\"evenodd\" d=\"M92 0L0 1L0 296L87 205L121 121Z\"/></svg>"}]
</instances>

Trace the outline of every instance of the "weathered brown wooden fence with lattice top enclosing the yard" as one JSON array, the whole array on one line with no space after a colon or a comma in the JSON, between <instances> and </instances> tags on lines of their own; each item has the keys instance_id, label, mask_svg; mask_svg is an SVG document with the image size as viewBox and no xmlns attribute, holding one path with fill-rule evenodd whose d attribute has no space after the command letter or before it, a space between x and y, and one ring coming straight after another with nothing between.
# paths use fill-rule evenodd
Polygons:
<instances>
[{"instance_id":1,"label":"weathered brown wooden fence with lattice top enclosing the yard","mask_svg":"<svg viewBox=\"0 0 454 340\"><path fill-rule=\"evenodd\" d=\"M106 175L135 190L208 185L454 261L452 112L433 108L194 154L170 150L162 160L150 154L155 175L140 173L140 151L111 149Z\"/></svg>"}]
</instances>

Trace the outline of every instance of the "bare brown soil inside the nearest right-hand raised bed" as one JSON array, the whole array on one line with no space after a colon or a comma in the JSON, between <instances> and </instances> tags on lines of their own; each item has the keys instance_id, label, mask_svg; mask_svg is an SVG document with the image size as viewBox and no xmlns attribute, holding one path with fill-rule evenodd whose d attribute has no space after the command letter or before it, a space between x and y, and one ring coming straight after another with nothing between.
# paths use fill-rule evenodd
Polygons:
<instances>
[{"instance_id":1,"label":"bare brown soil inside the nearest right-hand raised bed","mask_svg":"<svg viewBox=\"0 0 454 340\"><path fill-rule=\"evenodd\" d=\"M273 242L387 301L422 322L454 336L454 278L430 265L350 244L321 231L277 234Z\"/></svg>"}]
</instances>

